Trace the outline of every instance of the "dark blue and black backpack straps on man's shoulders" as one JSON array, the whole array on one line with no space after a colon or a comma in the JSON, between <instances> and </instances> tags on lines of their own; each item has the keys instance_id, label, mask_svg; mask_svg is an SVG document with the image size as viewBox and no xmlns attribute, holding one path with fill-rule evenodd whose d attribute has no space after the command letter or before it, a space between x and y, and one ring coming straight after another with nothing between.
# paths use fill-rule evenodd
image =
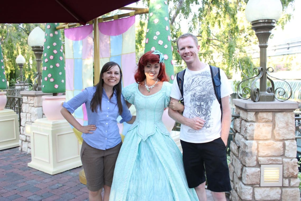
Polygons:
<instances>
[{"instance_id":1,"label":"dark blue and black backpack straps on man's shoulders","mask_svg":"<svg viewBox=\"0 0 301 201\"><path fill-rule=\"evenodd\" d=\"M220 74L220 70L218 67L215 66L211 66L210 67L210 71L211 71L211 78L212 78L212 83L213 83L213 88L214 88L214 93L216 96L216 99L219 102L220 108L221 108L221 112L222 112L222 100L221 100L221 74ZM182 94L182 99L180 100L180 102L184 105L184 96L183 96L183 88L184 88L184 75L185 75L185 71L186 68L183 71L180 71L177 73L176 78L177 78L177 83L179 86L179 89L181 91Z\"/></svg>"}]
</instances>

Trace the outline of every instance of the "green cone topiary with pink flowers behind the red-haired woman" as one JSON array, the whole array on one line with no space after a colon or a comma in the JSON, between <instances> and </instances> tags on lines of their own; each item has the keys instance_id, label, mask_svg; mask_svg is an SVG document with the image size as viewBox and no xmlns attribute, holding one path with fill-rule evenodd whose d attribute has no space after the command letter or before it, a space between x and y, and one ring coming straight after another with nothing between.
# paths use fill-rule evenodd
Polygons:
<instances>
[{"instance_id":1,"label":"green cone topiary with pink flowers behind the red-haired woman","mask_svg":"<svg viewBox=\"0 0 301 201\"><path fill-rule=\"evenodd\" d=\"M158 50L164 55L164 64L169 82L174 79L172 46L169 27L167 1L154 0L150 2L146 30L145 52Z\"/></svg>"}]
</instances>

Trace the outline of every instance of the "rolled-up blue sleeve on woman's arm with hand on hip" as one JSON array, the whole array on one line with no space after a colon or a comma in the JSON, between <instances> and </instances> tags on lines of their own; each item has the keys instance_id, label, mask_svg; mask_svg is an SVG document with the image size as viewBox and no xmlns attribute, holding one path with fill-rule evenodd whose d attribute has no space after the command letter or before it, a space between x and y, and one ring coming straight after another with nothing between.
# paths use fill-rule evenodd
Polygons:
<instances>
[{"instance_id":1,"label":"rolled-up blue sleeve on woman's arm with hand on hip","mask_svg":"<svg viewBox=\"0 0 301 201\"><path fill-rule=\"evenodd\" d=\"M83 103L88 100L88 90L87 88L83 90L81 93L74 96L68 102L63 103L63 107L66 108L71 114Z\"/></svg>"}]
</instances>

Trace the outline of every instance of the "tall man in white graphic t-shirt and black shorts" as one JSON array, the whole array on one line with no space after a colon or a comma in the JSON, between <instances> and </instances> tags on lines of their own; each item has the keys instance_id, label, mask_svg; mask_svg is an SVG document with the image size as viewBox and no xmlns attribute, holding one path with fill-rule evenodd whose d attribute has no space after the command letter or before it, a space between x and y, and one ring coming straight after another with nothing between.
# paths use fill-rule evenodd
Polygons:
<instances>
[{"instance_id":1,"label":"tall man in white graphic t-shirt and black shorts","mask_svg":"<svg viewBox=\"0 0 301 201\"><path fill-rule=\"evenodd\" d=\"M199 200L206 201L207 178L207 189L211 190L214 200L225 201L225 191L231 190L226 145L231 123L229 95L233 91L225 72L220 70L221 112L209 65L198 57L200 46L196 36L183 34L177 39L177 46L187 65L183 81L185 109L183 115L174 110L174 102L182 98L174 80L168 114L181 123L180 140L188 186L195 188Z\"/></svg>"}]
</instances>

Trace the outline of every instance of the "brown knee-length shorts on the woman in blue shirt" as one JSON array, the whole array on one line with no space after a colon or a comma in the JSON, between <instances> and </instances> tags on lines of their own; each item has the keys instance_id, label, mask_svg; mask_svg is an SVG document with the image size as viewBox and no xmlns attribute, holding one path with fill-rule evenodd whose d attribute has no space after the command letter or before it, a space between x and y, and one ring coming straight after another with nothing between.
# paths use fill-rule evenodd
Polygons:
<instances>
[{"instance_id":1,"label":"brown knee-length shorts on the woman in blue shirt","mask_svg":"<svg viewBox=\"0 0 301 201\"><path fill-rule=\"evenodd\" d=\"M90 191L98 191L104 185L111 187L117 156L122 142L113 148L101 150L82 142L80 158L84 168L87 188Z\"/></svg>"}]
</instances>

